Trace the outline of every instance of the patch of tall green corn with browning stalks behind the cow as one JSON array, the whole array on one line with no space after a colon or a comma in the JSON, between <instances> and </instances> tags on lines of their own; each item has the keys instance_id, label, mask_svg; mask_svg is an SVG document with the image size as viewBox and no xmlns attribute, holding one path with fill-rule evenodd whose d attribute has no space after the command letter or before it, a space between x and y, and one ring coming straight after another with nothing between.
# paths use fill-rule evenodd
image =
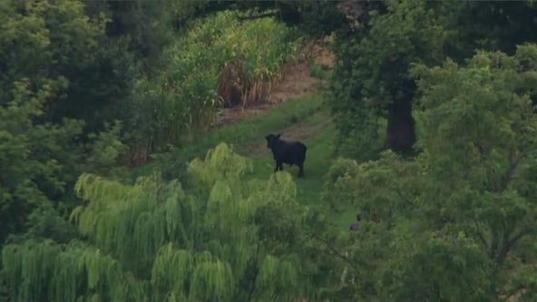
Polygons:
<instances>
[{"instance_id":1,"label":"patch of tall green corn with browning stalks behind the cow","mask_svg":"<svg viewBox=\"0 0 537 302\"><path fill-rule=\"evenodd\" d=\"M132 165L207 131L221 107L264 102L298 55L296 34L271 18L240 23L220 12L190 28L163 51L161 74L135 84Z\"/></svg>"}]
</instances>

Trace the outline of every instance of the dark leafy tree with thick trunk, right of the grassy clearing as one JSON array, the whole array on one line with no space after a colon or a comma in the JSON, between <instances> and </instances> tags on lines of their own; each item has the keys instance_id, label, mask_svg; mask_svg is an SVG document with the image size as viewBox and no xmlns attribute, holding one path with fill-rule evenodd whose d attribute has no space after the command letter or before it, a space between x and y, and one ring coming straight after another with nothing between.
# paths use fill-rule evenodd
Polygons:
<instances>
[{"instance_id":1,"label":"dark leafy tree with thick trunk, right of the grassy clearing","mask_svg":"<svg viewBox=\"0 0 537 302\"><path fill-rule=\"evenodd\" d=\"M390 1L385 12L368 11L366 24L338 31L327 104L343 151L360 157L375 149L379 117L387 119L386 148L413 147L415 83L408 68L412 62L432 64L441 59L445 38L441 8L425 1Z\"/></svg>"}]
</instances>

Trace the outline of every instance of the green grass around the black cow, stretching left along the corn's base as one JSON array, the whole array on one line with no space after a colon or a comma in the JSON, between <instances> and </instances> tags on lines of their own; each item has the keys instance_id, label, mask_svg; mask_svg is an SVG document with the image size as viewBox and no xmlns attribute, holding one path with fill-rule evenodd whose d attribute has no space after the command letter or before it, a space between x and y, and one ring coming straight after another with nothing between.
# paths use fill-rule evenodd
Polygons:
<instances>
[{"instance_id":1,"label":"green grass around the black cow, stretching left along the corn's base","mask_svg":"<svg viewBox=\"0 0 537 302\"><path fill-rule=\"evenodd\" d=\"M317 79L325 79L329 73L326 66L321 68L316 63L311 63L308 70ZM309 81L311 80L310 78ZM307 80L296 78L292 81L301 83ZM292 86L292 83L286 84ZM281 133L284 140L302 141L308 146L304 166L306 177L298 179L298 167L295 166L284 165L284 170L291 173L296 180L298 201L304 204L321 202L320 193L325 183L325 175L337 156L334 150L336 129L327 108L323 106L322 96L315 89L303 96L291 97L286 102L281 102L255 116L214 128L195 138L188 146L166 153L160 160L150 161L132 169L132 176L177 167L177 162L188 162L195 157L203 157L209 149L225 141L239 154L253 160L252 177L266 179L273 173L275 167L275 161L265 140L265 135L269 133ZM333 221L339 228L347 229L355 215L355 211L349 209L343 214L334 216Z\"/></svg>"}]
</instances>

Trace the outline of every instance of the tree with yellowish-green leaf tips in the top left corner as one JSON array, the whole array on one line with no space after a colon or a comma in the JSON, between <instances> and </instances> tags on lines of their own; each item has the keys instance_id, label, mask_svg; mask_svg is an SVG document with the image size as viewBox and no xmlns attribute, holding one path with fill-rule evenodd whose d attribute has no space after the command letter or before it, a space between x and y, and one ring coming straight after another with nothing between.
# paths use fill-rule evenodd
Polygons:
<instances>
[{"instance_id":1,"label":"tree with yellowish-green leaf tips in the top left corner","mask_svg":"<svg viewBox=\"0 0 537 302\"><path fill-rule=\"evenodd\" d=\"M86 127L93 127L90 132L102 129L97 120L103 109L124 92L118 87L121 83L117 85L118 76L112 74L119 64L106 62L110 49L100 47L107 19L103 15L90 19L79 1L7 1L1 6L5 22L0 61L5 66L0 103L13 99L15 81L28 79L34 92L44 83L52 84L57 97L54 102L44 100L44 121L82 119Z\"/></svg>"}]
</instances>

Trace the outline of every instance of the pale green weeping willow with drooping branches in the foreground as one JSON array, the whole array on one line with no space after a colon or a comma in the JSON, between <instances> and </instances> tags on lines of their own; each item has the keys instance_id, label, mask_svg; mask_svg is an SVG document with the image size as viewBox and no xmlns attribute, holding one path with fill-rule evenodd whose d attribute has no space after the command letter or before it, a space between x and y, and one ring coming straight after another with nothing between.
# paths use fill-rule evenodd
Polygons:
<instances>
[{"instance_id":1,"label":"pale green weeping willow with drooping branches in the foreground","mask_svg":"<svg viewBox=\"0 0 537 302\"><path fill-rule=\"evenodd\" d=\"M252 163L222 143L190 162L188 188L159 175L124 185L84 174L71 218L83 242L3 250L16 301L284 301L313 297L300 254L308 209L286 172L247 179Z\"/></svg>"}]
</instances>

